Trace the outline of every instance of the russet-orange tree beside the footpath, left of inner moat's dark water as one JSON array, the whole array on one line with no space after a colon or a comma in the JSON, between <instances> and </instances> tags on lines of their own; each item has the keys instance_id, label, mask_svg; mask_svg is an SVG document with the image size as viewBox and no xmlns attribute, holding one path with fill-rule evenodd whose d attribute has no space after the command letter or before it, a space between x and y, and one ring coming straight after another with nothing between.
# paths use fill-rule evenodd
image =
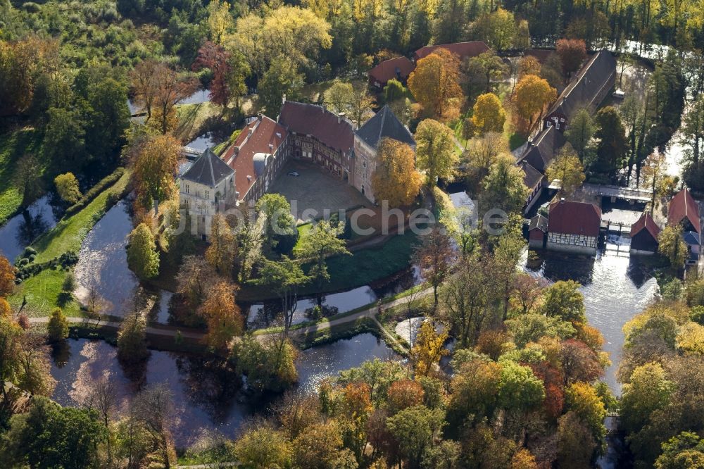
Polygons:
<instances>
[{"instance_id":1,"label":"russet-orange tree beside the footpath, left of inner moat's dark water","mask_svg":"<svg viewBox=\"0 0 704 469\"><path fill-rule=\"evenodd\" d=\"M234 301L236 289L230 282L217 282L199 308L199 314L206 318L208 325L208 334L203 340L218 351L227 349L232 338L244 330L244 319Z\"/></svg>"}]
</instances>

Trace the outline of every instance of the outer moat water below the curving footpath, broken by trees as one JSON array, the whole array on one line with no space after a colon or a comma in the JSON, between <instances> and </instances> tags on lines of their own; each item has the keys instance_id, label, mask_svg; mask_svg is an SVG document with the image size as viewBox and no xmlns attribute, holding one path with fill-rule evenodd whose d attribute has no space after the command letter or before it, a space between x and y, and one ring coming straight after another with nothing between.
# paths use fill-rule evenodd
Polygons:
<instances>
[{"instance_id":1,"label":"outer moat water below the curving footpath, broken by trees","mask_svg":"<svg viewBox=\"0 0 704 469\"><path fill-rule=\"evenodd\" d=\"M398 356L372 334L303 351L296 366L298 389L313 392L326 377L373 358ZM127 373L110 344L68 339L51 366L51 375L58 381L52 398L63 406L79 406L94 382L105 376L115 383L124 408L127 399L141 387L163 383L170 389L176 408L172 431L177 446L193 444L207 430L233 438L243 420L265 412L271 399L244 403L239 399L239 378L223 372L218 365L196 356L151 351L144 368Z\"/></svg>"}]
</instances>

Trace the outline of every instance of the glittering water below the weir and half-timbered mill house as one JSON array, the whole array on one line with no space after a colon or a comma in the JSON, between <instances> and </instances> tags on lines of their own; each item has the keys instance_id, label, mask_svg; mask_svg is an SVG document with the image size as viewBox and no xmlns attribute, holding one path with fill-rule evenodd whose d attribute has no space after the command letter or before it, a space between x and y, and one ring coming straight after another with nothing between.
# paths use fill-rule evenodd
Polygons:
<instances>
[{"instance_id":1,"label":"glittering water below the weir and half-timbered mill house","mask_svg":"<svg viewBox=\"0 0 704 469\"><path fill-rule=\"evenodd\" d=\"M582 284L586 318L605 339L603 349L610 355L605 382L620 394L616 369L624 342L624 323L640 313L658 291L658 284L638 256L629 256L628 246L608 243L596 258L538 251L539 265L526 266L533 275L553 282L576 280Z\"/></svg>"}]
</instances>

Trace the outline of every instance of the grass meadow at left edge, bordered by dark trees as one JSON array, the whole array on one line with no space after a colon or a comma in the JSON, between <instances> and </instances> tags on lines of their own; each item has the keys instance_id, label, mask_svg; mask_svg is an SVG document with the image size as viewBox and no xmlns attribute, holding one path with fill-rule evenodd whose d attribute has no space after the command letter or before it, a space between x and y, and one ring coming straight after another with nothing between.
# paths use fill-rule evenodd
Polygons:
<instances>
[{"instance_id":1,"label":"grass meadow at left edge, bordered by dark trees","mask_svg":"<svg viewBox=\"0 0 704 469\"><path fill-rule=\"evenodd\" d=\"M41 153L42 140L34 129L21 129L0 135L0 225L22 204L22 194L15 187L15 165L24 154ZM42 158L38 158L42 161Z\"/></svg>"}]
</instances>

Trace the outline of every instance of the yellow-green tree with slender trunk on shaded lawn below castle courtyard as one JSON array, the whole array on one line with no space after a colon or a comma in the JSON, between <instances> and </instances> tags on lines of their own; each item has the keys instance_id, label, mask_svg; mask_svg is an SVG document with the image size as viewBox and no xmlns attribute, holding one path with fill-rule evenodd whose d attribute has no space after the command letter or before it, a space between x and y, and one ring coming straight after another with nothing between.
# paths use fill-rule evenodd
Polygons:
<instances>
[{"instance_id":1,"label":"yellow-green tree with slender trunk on shaded lawn below castle courtyard","mask_svg":"<svg viewBox=\"0 0 704 469\"><path fill-rule=\"evenodd\" d=\"M327 258L340 255L351 255L345 247L344 239L340 238L344 231L344 223L333 226L329 221L321 220L308 230L294 249L296 258L310 262L308 276L315 284L316 300L322 306L322 289L330 281L327 271Z\"/></svg>"}]
</instances>

